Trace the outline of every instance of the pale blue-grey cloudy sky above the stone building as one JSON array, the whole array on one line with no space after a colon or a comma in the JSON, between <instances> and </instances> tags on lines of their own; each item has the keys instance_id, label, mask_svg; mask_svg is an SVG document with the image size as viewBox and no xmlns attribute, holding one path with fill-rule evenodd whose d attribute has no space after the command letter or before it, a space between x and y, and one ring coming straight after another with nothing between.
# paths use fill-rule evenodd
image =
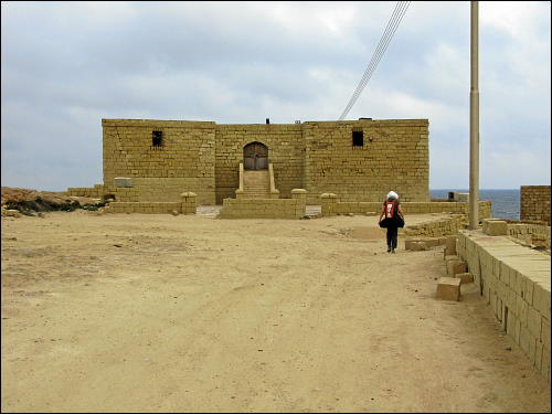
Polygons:
<instances>
[{"instance_id":1,"label":"pale blue-grey cloudy sky above the stone building","mask_svg":"<svg viewBox=\"0 0 552 414\"><path fill-rule=\"evenodd\" d=\"M1 3L2 185L102 183L102 118L341 115L395 2ZM479 2L480 187L550 184L551 3ZM347 119L428 118L469 187L469 2L412 2Z\"/></svg>"}]
</instances>

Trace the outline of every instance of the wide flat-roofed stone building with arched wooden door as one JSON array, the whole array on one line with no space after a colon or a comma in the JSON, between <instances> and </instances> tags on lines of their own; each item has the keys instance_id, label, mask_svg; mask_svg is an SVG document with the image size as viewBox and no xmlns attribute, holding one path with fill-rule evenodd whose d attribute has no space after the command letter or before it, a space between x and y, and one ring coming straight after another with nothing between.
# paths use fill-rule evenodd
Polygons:
<instances>
[{"instance_id":1,"label":"wide flat-roofed stone building with arched wooden door","mask_svg":"<svg viewBox=\"0 0 552 414\"><path fill-rule=\"evenodd\" d=\"M191 191L198 204L222 204L236 197L243 163L244 191L250 183L252 198L269 198L272 180L277 197L305 189L309 204L319 204L325 192L353 202L380 201L390 190L403 201L429 201L427 119L289 125L103 119L102 127L104 183L91 195L170 202ZM116 178L131 184L116 185Z\"/></svg>"}]
</instances>

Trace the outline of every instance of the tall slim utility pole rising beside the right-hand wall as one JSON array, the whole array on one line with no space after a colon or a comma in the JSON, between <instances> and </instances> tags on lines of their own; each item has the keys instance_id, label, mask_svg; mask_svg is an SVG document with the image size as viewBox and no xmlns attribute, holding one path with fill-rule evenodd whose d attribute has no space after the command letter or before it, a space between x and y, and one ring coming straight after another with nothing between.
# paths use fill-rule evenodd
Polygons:
<instances>
[{"instance_id":1,"label":"tall slim utility pole rising beside the right-hand wall","mask_svg":"<svg viewBox=\"0 0 552 414\"><path fill-rule=\"evenodd\" d=\"M471 1L471 87L469 91L469 229L479 226L479 2Z\"/></svg>"}]
</instances>

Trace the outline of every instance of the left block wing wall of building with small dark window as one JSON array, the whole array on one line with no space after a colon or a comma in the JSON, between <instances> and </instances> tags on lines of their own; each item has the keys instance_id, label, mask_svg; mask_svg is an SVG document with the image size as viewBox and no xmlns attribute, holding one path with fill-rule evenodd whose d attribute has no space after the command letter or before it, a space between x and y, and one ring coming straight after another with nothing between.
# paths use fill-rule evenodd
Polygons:
<instances>
[{"instance_id":1,"label":"left block wing wall of building with small dark window","mask_svg":"<svg viewBox=\"0 0 552 414\"><path fill-rule=\"evenodd\" d=\"M115 193L115 177L130 177L140 201L179 201L183 191L198 203L215 203L215 124L209 121L103 119L104 187ZM152 145L162 132L162 146Z\"/></svg>"}]
</instances>

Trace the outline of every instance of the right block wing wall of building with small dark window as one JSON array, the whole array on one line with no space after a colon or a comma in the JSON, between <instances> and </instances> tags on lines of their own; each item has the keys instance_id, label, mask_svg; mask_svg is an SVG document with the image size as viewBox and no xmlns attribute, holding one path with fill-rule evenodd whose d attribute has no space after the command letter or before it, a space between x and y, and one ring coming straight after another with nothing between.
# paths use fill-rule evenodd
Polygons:
<instances>
[{"instance_id":1,"label":"right block wing wall of building with small dark window","mask_svg":"<svg viewBox=\"0 0 552 414\"><path fill-rule=\"evenodd\" d=\"M352 145L362 131L364 145ZM427 119L308 121L305 183L316 203L330 192L341 201L378 201L393 190L403 201L429 201Z\"/></svg>"}]
</instances>

